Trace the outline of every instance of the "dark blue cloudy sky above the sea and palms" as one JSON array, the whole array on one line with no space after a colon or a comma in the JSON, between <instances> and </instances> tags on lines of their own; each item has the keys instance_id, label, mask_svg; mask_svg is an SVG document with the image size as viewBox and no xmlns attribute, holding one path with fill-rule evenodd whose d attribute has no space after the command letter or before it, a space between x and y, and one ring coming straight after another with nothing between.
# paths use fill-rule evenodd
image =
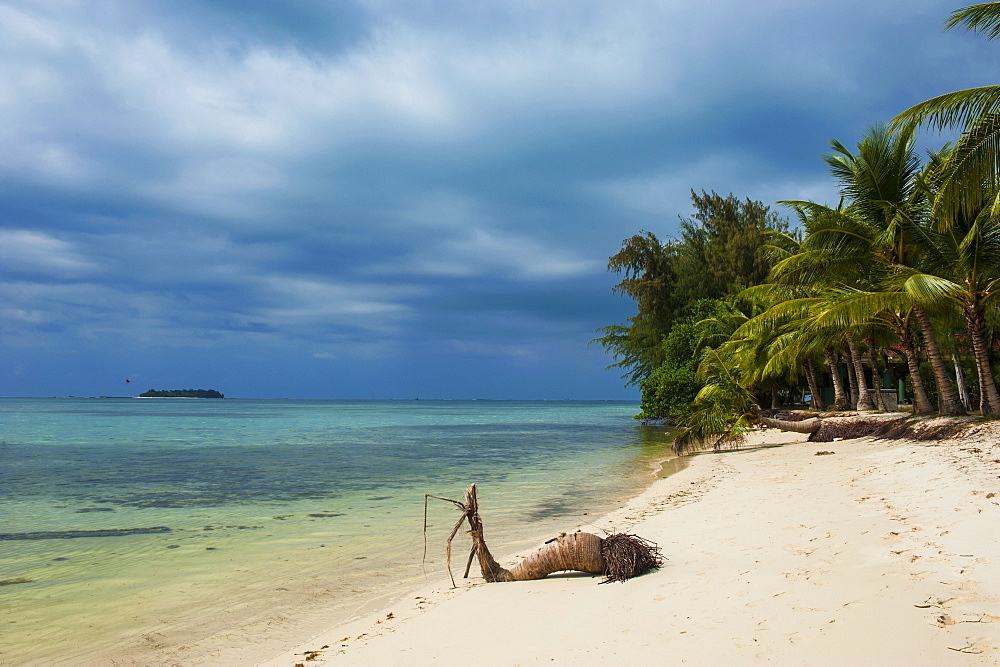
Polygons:
<instances>
[{"instance_id":1,"label":"dark blue cloudy sky above the sea and palms","mask_svg":"<svg viewBox=\"0 0 1000 667\"><path fill-rule=\"evenodd\" d=\"M0 396L637 399L608 257L836 204L831 138L997 82L960 6L0 0Z\"/></svg>"}]
</instances>

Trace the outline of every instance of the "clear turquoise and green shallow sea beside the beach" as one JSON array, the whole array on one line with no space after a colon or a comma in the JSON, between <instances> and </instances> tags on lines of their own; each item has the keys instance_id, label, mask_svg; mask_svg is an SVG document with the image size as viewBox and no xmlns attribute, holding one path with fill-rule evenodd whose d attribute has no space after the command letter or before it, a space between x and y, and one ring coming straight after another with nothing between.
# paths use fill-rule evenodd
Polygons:
<instances>
[{"instance_id":1,"label":"clear turquoise and green shallow sea beside the beach","mask_svg":"<svg viewBox=\"0 0 1000 667\"><path fill-rule=\"evenodd\" d=\"M458 514L425 494L476 483L498 558L620 507L673 469L637 410L0 399L0 664L277 655L448 576Z\"/></svg>"}]
</instances>

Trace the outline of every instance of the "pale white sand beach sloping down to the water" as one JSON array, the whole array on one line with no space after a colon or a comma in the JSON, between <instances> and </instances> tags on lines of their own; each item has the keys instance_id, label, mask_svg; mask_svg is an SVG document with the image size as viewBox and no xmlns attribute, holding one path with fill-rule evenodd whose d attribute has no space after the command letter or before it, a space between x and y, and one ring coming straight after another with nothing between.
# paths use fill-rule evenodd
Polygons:
<instances>
[{"instance_id":1,"label":"pale white sand beach sloping down to the water","mask_svg":"<svg viewBox=\"0 0 1000 667\"><path fill-rule=\"evenodd\" d=\"M763 431L595 522L658 543L657 571L442 578L263 664L1000 664L998 434Z\"/></svg>"}]
</instances>

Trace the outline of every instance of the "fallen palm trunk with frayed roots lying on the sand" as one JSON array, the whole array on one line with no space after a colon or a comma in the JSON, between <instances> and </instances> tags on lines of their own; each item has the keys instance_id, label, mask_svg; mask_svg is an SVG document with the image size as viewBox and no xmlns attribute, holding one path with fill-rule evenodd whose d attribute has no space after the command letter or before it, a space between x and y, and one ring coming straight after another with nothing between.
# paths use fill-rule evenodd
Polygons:
<instances>
[{"instance_id":1,"label":"fallen palm trunk with frayed roots lying on the sand","mask_svg":"<svg viewBox=\"0 0 1000 667\"><path fill-rule=\"evenodd\" d=\"M462 511L461 518L448 536L446 549L448 575L451 576L452 586L455 585L455 577L451 572L451 543L462 524L466 522L469 524L468 532L472 538L472 551L465 567L465 576L469 576L473 560L478 559L483 579L491 583L542 579L553 572L564 570L603 574L605 578L601 583L625 581L660 567L663 561L659 547L636 535L618 533L602 538L593 533L577 531L560 533L508 570L496 562L489 547L486 546L483 522L479 518L479 500L476 497L475 484L466 490L462 502L430 494L424 496L425 549L428 498L453 503Z\"/></svg>"}]
</instances>

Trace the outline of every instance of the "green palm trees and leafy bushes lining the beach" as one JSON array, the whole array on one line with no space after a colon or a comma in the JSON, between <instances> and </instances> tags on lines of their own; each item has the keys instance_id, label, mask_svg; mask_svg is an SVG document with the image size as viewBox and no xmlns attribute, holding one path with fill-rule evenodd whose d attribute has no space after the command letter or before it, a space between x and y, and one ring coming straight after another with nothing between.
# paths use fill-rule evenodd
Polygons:
<instances>
[{"instance_id":1,"label":"green palm trees and leafy bushes lining the beach","mask_svg":"<svg viewBox=\"0 0 1000 667\"><path fill-rule=\"evenodd\" d=\"M1000 39L1000 2L953 12L955 27ZM924 161L921 125L962 134ZM831 148L824 160L840 204L781 202L801 231L789 233L760 202L692 191L695 213L681 220L679 240L647 233L611 258L625 273L616 291L639 312L598 340L640 384L641 416L685 428L679 450L738 442L767 394L776 407L805 382L815 392L821 373L839 378L844 356L857 404L868 406L865 367L877 390L890 350L896 370L905 365L915 412L936 403L944 415L963 413L957 364L978 378L971 407L1000 415L1000 86L928 100L868 128L856 148ZM695 316L705 299L714 311Z\"/></svg>"}]
</instances>

